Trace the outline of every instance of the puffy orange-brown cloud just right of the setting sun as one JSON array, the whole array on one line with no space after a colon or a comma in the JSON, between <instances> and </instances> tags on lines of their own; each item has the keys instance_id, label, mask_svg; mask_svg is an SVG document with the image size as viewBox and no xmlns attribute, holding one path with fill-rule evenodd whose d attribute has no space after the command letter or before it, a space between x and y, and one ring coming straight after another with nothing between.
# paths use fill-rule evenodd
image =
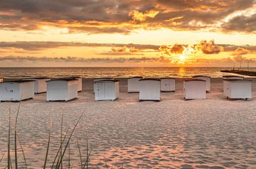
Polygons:
<instances>
[{"instance_id":1,"label":"puffy orange-brown cloud just right of the setting sun","mask_svg":"<svg viewBox=\"0 0 256 169\"><path fill-rule=\"evenodd\" d=\"M210 40L209 42L207 40L201 40L195 48L196 50L201 50L204 54L218 54L224 50L223 46L216 45L214 40Z\"/></svg>"}]
</instances>

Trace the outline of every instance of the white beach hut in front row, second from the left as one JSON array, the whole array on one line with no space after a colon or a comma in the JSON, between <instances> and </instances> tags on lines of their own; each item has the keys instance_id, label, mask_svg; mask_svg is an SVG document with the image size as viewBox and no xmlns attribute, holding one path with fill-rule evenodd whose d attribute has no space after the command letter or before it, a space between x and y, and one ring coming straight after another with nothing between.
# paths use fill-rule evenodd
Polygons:
<instances>
[{"instance_id":1,"label":"white beach hut in front row, second from the left","mask_svg":"<svg viewBox=\"0 0 256 169\"><path fill-rule=\"evenodd\" d=\"M46 82L47 92L46 100L50 101L65 101L78 97L78 80L72 78L63 78L49 80Z\"/></svg>"}]
</instances>

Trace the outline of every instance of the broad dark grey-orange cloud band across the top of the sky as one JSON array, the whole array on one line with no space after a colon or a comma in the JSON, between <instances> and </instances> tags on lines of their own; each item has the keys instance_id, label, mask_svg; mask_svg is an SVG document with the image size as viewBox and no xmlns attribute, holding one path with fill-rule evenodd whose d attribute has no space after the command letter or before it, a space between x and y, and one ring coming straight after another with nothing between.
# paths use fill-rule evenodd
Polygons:
<instances>
[{"instance_id":1,"label":"broad dark grey-orange cloud band across the top of the sky","mask_svg":"<svg viewBox=\"0 0 256 169\"><path fill-rule=\"evenodd\" d=\"M254 0L0 0L0 28L36 30L69 28L70 33L130 33L137 28L218 30L216 23ZM236 16L223 31L255 33L255 14Z\"/></svg>"}]
</instances>

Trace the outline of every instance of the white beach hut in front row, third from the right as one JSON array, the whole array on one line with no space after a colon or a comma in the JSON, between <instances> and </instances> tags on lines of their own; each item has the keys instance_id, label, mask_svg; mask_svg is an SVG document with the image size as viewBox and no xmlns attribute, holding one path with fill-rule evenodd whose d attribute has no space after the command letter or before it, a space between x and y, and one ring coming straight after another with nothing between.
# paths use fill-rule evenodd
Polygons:
<instances>
[{"instance_id":1,"label":"white beach hut in front row, third from the right","mask_svg":"<svg viewBox=\"0 0 256 169\"><path fill-rule=\"evenodd\" d=\"M144 78L139 80L139 101L160 101L161 80Z\"/></svg>"}]
</instances>

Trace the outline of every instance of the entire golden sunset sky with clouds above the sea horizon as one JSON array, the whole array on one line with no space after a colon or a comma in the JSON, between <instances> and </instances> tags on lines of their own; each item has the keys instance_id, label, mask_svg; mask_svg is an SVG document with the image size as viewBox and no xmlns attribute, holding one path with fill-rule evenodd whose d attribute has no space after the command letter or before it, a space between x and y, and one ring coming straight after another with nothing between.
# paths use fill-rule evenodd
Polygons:
<instances>
[{"instance_id":1,"label":"entire golden sunset sky with clouds above the sea horizon","mask_svg":"<svg viewBox=\"0 0 256 169\"><path fill-rule=\"evenodd\" d=\"M256 0L0 0L0 67L256 67Z\"/></svg>"}]
</instances>

